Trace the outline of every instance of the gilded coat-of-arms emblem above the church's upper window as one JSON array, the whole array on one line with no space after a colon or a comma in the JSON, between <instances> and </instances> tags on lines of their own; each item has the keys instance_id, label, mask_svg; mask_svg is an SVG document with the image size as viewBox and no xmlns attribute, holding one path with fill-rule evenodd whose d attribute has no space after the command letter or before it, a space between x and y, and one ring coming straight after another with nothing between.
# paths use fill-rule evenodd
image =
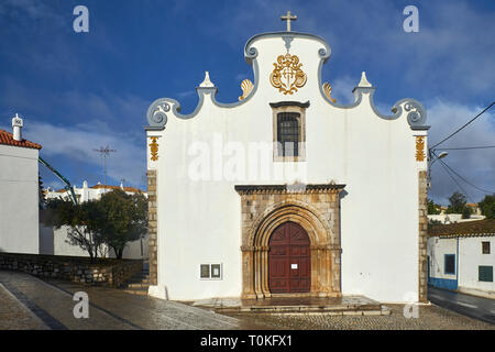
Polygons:
<instances>
[{"instance_id":1,"label":"gilded coat-of-arms emblem above the church's upper window","mask_svg":"<svg viewBox=\"0 0 495 352\"><path fill-rule=\"evenodd\" d=\"M279 55L273 65L275 68L270 75L270 82L284 95L292 95L306 84L307 76L300 69L302 64L296 55Z\"/></svg>"}]
</instances>

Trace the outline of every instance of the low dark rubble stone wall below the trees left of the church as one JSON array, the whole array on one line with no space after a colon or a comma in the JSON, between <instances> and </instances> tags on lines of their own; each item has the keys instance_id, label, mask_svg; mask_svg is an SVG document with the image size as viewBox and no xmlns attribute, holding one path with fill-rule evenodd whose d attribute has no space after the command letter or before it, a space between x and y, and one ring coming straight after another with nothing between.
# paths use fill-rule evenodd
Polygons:
<instances>
[{"instance_id":1,"label":"low dark rubble stone wall below the trees left of the church","mask_svg":"<svg viewBox=\"0 0 495 352\"><path fill-rule=\"evenodd\" d=\"M141 260L0 253L0 270L20 271L38 277L52 277L82 283L120 287L128 278L142 271Z\"/></svg>"}]
</instances>

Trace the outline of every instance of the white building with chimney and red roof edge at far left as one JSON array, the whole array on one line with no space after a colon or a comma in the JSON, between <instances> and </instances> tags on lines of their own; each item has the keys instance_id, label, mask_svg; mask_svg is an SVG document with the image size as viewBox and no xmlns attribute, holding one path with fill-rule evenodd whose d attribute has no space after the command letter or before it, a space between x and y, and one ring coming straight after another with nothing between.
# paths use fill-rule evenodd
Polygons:
<instances>
[{"instance_id":1,"label":"white building with chimney and red roof edge at far left","mask_svg":"<svg viewBox=\"0 0 495 352\"><path fill-rule=\"evenodd\" d=\"M22 138L23 120L13 133L0 130L0 252L38 253L38 152Z\"/></svg>"}]
</instances>

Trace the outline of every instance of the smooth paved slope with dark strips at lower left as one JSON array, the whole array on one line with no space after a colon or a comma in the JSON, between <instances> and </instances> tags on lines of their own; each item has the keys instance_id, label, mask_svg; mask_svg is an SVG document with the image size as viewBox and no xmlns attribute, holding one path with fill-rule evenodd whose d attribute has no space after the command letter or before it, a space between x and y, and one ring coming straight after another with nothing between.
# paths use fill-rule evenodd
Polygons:
<instances>
[{"instance_id":1,"label":"smooth paved slope with dark strips at lower left","mask_svg":"<svg viewBox=\"0 0 495 352\"><path fill-rule=\"evenodd\" d=\"M239 329L239 320L200 308L119 289L85 287L0 271L0 329ZM73 314L76 292L89 296L89 318Z\"/></svg>"}]
</instances>

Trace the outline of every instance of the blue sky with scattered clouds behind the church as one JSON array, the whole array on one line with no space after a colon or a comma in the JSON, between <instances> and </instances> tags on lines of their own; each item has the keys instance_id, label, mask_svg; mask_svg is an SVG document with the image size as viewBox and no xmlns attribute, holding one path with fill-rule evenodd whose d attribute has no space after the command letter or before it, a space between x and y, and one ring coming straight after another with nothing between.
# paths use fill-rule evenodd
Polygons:
<instances>
[{"instance_id":1,"label":"blue sky with scattered clouds behind the church","mask_svg":"<svg viewBox=\"0 0 495 352\"><path fill-rule=\"evenodd\" d=\"M75 33L73 9L89 10L89 33ZM406 33L403 9L419 9L419 32ZM235 101L252 78L243 47L253 35L284 30L323 36L332 48L323 79L342 102L362 70L383 112L411 97L428 110L435 144L495 100L494 1L157 1L1 0L0 128L24 118L24 138L72 184L102 182L94 148L110 145L108 179L145 188L145 111L161 97L189 112L205 70L219 101ZM495 109L442 146L495 145ZM481 188L495 190L495 148L451 151L444 160ZM45 185L62 186L41 166ZM432 167L430 197L484 194Z\"/></svg>"}]
</instances>

